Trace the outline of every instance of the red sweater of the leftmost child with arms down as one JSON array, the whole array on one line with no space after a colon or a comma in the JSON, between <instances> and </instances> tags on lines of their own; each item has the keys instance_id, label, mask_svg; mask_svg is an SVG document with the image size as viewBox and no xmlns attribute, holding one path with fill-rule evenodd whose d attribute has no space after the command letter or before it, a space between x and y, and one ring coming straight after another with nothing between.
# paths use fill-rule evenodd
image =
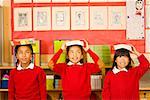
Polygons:
<instances>
[{"instance_id":1,"label":"red sweater of the leftmost child with arms down","mask_svg":"<svg viewBox=\"0 0 150 100\"><path fill-rule=\"evenodd\" d=\"M46 74L37 66L10 72L9 100L46 100Z\"/></svg>"}]
</instances>

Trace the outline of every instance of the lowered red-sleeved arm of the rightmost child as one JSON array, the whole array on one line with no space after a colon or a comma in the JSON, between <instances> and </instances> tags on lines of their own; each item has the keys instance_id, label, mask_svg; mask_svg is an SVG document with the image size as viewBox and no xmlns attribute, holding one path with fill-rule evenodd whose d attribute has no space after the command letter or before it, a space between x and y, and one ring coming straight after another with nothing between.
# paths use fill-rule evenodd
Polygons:
<instances>
[{"instance_id":1,"label":"lowered red-sleeved arm of the rightmost child","mask_svg":"<svg viewBox=\"0 0 150 100\"><path fill-rule=\"evenodd\" d=\"M107 73L104 79L104 85L102 89L102 100L110 100L110 75L109 72Z\"/></svg>"}]
</instances>

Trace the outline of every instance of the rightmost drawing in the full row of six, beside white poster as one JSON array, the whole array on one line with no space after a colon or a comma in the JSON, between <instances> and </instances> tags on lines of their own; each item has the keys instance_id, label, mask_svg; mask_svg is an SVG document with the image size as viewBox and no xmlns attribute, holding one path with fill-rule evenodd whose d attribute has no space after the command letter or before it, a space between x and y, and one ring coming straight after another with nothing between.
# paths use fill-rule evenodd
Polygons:
<instances>
[{"instance_id":1,"label":"rightmost drawing in the full row of six, beside white poster","mask_svg":"<svg viewBox=\"0 0 150 100\"><path fill-rule=\"evenodd\" d=\"M108 7L108 29L125 30L126 29L126 7L109 6Z\"/></svg>"}]
</instances>

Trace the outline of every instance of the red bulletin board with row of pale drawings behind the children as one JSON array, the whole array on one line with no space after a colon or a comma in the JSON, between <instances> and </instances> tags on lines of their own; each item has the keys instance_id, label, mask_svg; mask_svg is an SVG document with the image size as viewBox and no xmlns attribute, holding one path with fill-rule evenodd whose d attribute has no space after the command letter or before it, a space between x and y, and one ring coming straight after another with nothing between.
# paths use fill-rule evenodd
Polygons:
<instances>
[{"instance_id":1,"label":"red bulletin board with row of pale drawings behind the children","mask_svg":"<svg viewBox=\"0 0 150 100\"><path fill-rule=\"evenodd\" d=\"M125 0L12 0L12 40L35 38L41 53L54 53L54 40L86 39L91 45L133 44L126 39Z\"/></svg>"}]
</instances>

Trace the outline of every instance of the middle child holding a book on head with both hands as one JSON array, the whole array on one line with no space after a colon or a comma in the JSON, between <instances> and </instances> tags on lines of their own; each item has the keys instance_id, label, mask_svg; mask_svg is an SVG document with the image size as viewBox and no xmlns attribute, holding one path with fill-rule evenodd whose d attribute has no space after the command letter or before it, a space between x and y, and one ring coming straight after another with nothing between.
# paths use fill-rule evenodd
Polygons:
<instances>
[{"instance_id":1,"label":"middle child holding a book on head with both hands","mask_svg":"<svg viewBox=\"0 0 150 100\"><path fill-rule=\"evenodd\" d=\"M66 49L66 63L56 63ZM84 50L83 50L84 49ZM90 54L94 63L84 60L84 51ZM51 70L61 75L64 100L89 100L91 94L90 75L104 66L99 57L92 52L85 41L69 41L49 61Z\"/></svg>"}]
</instances>

